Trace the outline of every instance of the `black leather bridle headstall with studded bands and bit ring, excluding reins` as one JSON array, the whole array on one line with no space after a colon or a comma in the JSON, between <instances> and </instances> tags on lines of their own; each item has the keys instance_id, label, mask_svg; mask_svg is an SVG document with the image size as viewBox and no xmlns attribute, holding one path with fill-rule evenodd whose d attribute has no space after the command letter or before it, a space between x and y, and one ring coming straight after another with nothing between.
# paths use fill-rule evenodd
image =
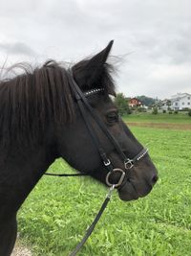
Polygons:
<instances>
[{"instance_id":1,"label":"black leather bridle headstall with studded bands and bit ring, excluding reins","mask_svg":"<svg viewBox=\"0 0 191 256\"><path fill-rule=\"evenodd\" d=\"M71 89L74 92L74 98L77 102L77 105L79 107L80 113L83 117L83 120L86 124L86 127L88 128L91 137L95 143L96 146L96 150L98 151L100 158L103 162L103 165L108 169L108 175L106 176L106 184L111 187L114 186L115 188L119 187L122 182L123 179L125 177L125 172L123 170L121 170L120 168L113 168L112 163L110 161L110 159L107 156L107 153L103 150L102 146L100 145L99 139L96 135L96 132L94 130L94 128L92 127L92 125L88 122L87 119L87 112L86 109L89 111L89 113L92 115L92 117L95 119L96 124L99 126L99 128L102 129L102 131L105 133L105 135L108 137L108 139L110 140L110 142L114 145L115 149L117 150L119 156L121 157L121 159L123 160L123 164L124 164L124 169L125 170L129 170L131 169L135 163L140 160L146 153L147 153L147 149L142 149L140 152L138 152L138 154L133 158L130 159L128 158L125 153L121 150L120 146L117 143L117 140L115 139L115 137L110 133L110 131L108 130L108 128L105 126L105 124L99 119L99 117L96 115L96 112L94 111L93 107L88 103L87 100L87 96L99 93L103 91L103 88L97 88L97 89L93 89L90 91L87 91L85 93L83 93L81 91L81 89L79 88L79 86L77 85L77 83L74 81L74 76L73 76L73 72L72 70L70 70L69 72L70 76L69 78L71 79L71 83L73 84L71 85ZM85 109L85 107L86 109ZM113 175L115 172L119 172L120 173L120 178L118 179L117 183L112 184L109 181L110 175Z\"/></svg>"}]
</instances>

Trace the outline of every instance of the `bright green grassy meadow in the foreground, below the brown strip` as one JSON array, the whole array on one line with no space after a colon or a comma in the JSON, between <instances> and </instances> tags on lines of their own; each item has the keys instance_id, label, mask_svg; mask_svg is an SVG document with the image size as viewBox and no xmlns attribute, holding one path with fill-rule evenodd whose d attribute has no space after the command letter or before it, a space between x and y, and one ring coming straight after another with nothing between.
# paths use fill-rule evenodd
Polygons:
<instances>
[{"instance_id":1,"label":"bright green grassy meadow in the foreground, below the brown strip","mask_svg":"<svg viewBox=\"0 0 191 256\"><path fill-rule=\"evenodd\" d=\"M137 201L123 202L115 194L78 255L191 255L191 131L132 129L148 145L159 182ZM58 159L50 171L68 169ZM106 192L92 178L44 176L18 214L21 240L32 247L33 255L68 255Z\"/></svg>"}]
</instances>

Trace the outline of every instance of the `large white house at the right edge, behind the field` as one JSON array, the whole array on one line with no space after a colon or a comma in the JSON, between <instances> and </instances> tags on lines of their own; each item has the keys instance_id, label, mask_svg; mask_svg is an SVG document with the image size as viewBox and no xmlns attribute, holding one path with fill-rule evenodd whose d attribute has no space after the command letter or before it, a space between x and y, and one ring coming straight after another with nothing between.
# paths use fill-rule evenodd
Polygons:
<instances>
[{"instance_id":1,"label":"large white house at the right edge, behind the field","mask_svg":"<svg viewBox=\"0 0 191 256\"><path fill-rule=\"evenodd\" d=\"M173 110L182 110L183 108L191 108L191 94L189 93L178 93L170 99L171 108Z\"/></svg>"}]
</instances>

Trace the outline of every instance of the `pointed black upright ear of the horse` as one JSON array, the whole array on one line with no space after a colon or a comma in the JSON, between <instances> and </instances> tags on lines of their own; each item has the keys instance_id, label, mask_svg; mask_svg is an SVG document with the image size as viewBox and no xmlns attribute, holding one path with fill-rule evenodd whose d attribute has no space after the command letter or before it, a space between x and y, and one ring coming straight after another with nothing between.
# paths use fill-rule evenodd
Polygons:
<instances>
[{"instance_id":1,"label":"pointed black upright ear of the horse","mask_svg":"<svg viewBox=\"0 0 191 256\"><path fill-rule=\"evenodd\" d=\"M80 87L93 87L101 77L104 64L110 54L114 40L93 58L82 60L73 67L74 79Z\"/></svg>"}]
</instances>

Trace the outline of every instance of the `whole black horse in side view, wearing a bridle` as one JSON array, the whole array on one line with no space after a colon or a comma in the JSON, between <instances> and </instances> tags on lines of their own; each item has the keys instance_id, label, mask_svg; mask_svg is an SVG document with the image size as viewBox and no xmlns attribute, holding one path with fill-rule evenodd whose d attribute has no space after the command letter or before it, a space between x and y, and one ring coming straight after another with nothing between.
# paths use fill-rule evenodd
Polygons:
<instances>
[{"instance_id":1,"label":"whole black horse in side view, wearing a bridle","mask_svg":"<svg viewBox=\"0 0 191 256\"><path fill-rule=\"evenodd\" d=\"M16 213L57 157L106 185L120 178L116 172L109 181L108 166L122 170L125 175L117 187L122 200L144 197L156 183L154 164L147 151L138 154L143 147L118 116L110 97L116 94L112 66L106 62L112 44L74 64L73 77L63 65L48 61L41 68L0 81L0 256L11 254ZM76 84L102 124L86 111L85 121L95 135L77 104ZM102 158L94 136L104 149ZM121 154L127 156L126 165ZM139 161L130 160L136 155Z\"/></svg>"}]
</instances>

